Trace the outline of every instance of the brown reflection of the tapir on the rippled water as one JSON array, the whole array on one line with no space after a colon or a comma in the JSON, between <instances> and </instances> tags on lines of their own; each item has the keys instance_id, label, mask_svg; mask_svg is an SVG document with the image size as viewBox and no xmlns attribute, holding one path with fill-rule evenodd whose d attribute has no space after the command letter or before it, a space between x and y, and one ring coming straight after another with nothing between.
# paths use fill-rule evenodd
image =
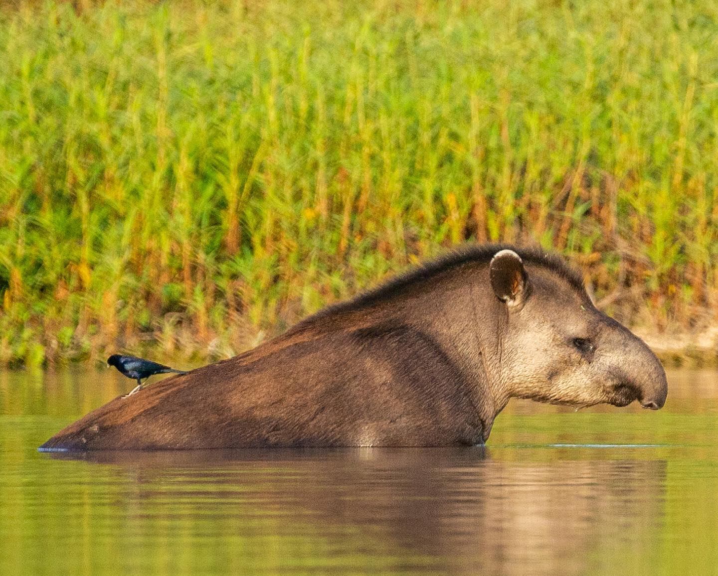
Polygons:
<instances>
[{"instance_id":1,"label":"brown reflection of the tapir on the rippled water","mask_svg":"<svg viewBox=\"0 0 718 576\"><path fill-rule=\"evenodd\" d=\"M503 462L483 449L93 453L83 460L101 471L111 466L134 510L126 529L147 532L151 522L152 540L171 540L176 523L201 517L211 520L204 537L222 538L231 524L240 539L291 542L302 534L321 542L255 549L255 567L279 567L287 552L311 562L331 549L345 560L401 559L394 570L467 574L579 574L596 550L655 547L666 475L663 461ZM236 552L237 562L249 560L246 549Z\"/></svg>"}]
</instances>

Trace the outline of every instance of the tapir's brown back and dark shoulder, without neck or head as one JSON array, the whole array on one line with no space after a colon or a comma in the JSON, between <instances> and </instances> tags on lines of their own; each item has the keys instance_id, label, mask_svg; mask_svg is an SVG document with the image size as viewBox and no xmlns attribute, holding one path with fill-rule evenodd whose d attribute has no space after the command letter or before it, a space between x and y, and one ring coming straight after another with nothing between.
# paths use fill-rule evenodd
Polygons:
<instances>
[{"instance_id":1,"label":"tapir's brown back and dark shoulder, without neck or head","mask_svg":"<svg viewBox=\"0 0 718 576\"><path fill-rule=\"evenodd\" d=\"M467 398L436 385L461 378L431 339L406 327L331 332L116 398L42 448L480 443Z\"/></svg>"}]
</instances>

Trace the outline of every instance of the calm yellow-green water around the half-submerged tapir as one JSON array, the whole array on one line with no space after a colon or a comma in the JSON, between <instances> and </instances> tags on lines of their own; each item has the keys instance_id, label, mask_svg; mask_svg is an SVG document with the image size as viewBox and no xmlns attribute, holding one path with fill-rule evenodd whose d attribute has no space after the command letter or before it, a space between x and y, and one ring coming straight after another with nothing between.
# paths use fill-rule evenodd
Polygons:
<instances>
[{"instance_id":1,"label":"calm yellow-green water around the half-submerged tapir","mask_svg":"<svg viewBox=\"0 0 718 576\"><path fill-rule=\"evenodd\" d=\"M718 373L511 402L487 448L37 453L132 386L0 373L0 574L718 573Z\"/></svg>"}]
</instances>

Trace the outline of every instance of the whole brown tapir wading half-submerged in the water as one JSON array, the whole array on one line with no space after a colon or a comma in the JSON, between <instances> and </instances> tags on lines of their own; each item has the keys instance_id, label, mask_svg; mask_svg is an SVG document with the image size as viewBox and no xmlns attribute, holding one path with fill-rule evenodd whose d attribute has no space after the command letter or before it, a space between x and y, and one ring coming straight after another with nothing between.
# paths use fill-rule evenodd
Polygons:
<instances>
[{"instance_id":1,"label":"whole brown tapir wading half-submerged in the water","mask_svg":"<svg viewBox=\"0 0 718 576\"><path fill-rule=\"evenodd\" d=\"M479 445L510 398L657 410L667 392L651 349L564 260L473 245L118 397L40 449Z\"/></svg>"}]
</instances>

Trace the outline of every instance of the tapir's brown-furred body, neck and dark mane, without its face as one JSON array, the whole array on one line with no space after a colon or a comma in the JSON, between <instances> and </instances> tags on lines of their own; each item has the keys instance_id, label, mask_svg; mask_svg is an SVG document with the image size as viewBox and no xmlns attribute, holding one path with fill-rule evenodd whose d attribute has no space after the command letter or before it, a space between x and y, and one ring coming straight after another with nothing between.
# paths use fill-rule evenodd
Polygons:
<instances>
[{"instance_id":1,"label":"tapir's brown-furred body, neck and dark mane, without its face","mask_svg":"<svg viewBox=\"0 0 718 576\"><path fill-rule=\"evenodd\" d=\"M469 247L415 268L238 357L108 402L42 448L482 443L510 395L498 376L506 307L488 283L505 248ZM562 260L514 250L590 305Z\"/></svg>"}]
</instances>

